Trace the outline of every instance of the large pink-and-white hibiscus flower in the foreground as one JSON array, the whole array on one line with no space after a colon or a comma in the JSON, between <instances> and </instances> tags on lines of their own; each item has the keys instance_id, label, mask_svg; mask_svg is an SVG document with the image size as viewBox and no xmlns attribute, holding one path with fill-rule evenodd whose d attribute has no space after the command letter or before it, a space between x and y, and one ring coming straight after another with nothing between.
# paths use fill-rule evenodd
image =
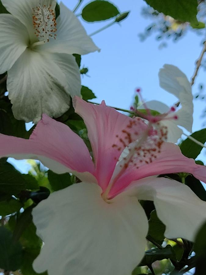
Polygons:
<instances>
[{"instance_id":1,"label":"large pink-and-white hibiscus flower in the foreground","mask_svg":"<svg viewBox=\"0 0 206 275\"><path fill-rule=\"evenodd\" d=\"M193 241L206 219L206 202L186 185L159 174L187 172L206 181L206 167L163 142L140 118L74 98L92 145L44 115L29 140L0 134L0 156L33 158L82 182L52 193L33 210L44 245L34 261L49 275L128 275L141 261L148 222L139 200L153 200L165 237ZM125 147L128 156L119 160Z\"/></svg>"}]
</instances>

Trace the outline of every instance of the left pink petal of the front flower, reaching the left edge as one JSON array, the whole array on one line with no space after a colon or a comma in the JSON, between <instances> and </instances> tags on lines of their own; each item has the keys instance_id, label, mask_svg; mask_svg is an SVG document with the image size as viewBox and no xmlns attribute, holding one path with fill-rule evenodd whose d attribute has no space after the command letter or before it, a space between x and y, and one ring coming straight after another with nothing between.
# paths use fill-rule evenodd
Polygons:
<instances>
[{"instance_id":1,"label":"left pink petal of the front flower, reaching the left edge","mask_svg":"<svg viewBox=\"0 0 206 275\"><path fill-rule=\"evenodd\" d=\"M43 160L46 166L51 164L51 169L59 173L63 172L64 167L67 172L94 174L94 165L84 141L65 124L46 115L43 115L29 140L1 134L0 144L1 157ZM59 163L61 165L58 169Z\"/></svg>"}]
</instances>

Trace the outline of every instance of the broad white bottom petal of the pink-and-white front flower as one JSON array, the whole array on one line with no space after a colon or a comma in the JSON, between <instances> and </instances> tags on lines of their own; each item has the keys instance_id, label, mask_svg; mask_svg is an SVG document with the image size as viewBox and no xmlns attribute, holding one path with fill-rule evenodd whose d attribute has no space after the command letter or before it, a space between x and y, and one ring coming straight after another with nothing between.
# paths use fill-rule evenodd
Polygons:
<instances>
[{"instance_id":1,"label":"broad white bottom petal of the pink-and-white front flower","mask_svg":"<svg viewBox=\"0 0 206 275\"><path fill-rule=\"evenodd\" d=\"M33 210L44 246L34 261L49 275L131 274L143 257L148 229L135 197L101 197L98 185L82 182L52 193Z\"/></svg>"}]
</instances>

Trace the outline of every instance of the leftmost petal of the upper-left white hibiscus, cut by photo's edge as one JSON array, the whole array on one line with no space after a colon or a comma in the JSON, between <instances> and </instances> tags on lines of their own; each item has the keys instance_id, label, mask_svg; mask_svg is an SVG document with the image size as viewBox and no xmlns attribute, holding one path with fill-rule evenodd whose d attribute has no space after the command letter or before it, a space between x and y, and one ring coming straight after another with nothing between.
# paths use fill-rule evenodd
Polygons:
<instances>
[{"instance_id":1,"label":"leftmost petal of the upper-left white hibiscus, cut by photo's edge","mask_svg":"<svg viewBox=\"0 0 206 275\"><path fill-rule=\"evenodd\" d=\"M11 14L0 14L0 74L8 71L27 48L29 34Z\"/></svg>"}]
</instances>

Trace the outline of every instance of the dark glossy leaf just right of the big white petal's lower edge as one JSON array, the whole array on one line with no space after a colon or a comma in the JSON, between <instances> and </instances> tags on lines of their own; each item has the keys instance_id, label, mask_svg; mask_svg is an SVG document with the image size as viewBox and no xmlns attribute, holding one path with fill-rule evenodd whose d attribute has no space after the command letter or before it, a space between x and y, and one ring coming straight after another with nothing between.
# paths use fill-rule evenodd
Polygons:
<instances>
[{"instance_id":1,"label":"dark glossy leaf just right of the big white petal's lower edge","mask_svg":"<svg viewBox=\"0 0 206 275\"><path fill-rule=\"evenodd\" d=\"M155 261L161 261L163 259L174 259L176 260L175 251L171 245L167 245L163 249L154 248L145 251L142 261L139 263L139 266L151 266Z\"/></svg>"}]
</instances>

